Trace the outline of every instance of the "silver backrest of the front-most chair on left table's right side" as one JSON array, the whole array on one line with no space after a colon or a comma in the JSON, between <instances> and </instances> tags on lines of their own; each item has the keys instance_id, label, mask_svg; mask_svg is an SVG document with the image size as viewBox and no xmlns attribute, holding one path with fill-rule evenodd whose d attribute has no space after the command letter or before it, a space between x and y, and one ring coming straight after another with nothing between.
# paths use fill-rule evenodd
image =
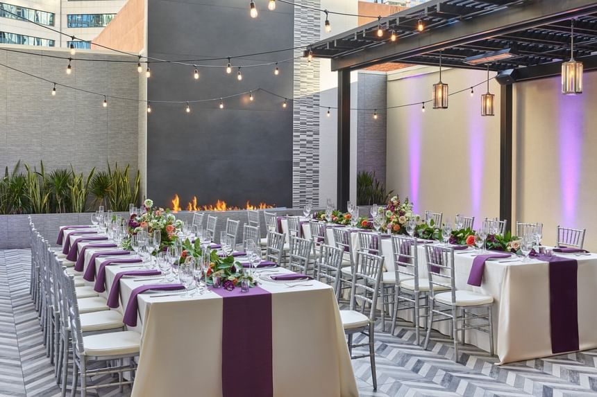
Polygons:
<instances>
[{"instance_id":1,"label":"silver backrest of the front-most chair on left table's right side","mask_svg":"<svg viewBox=\"0 0 597 397\"><path fill-rule=\"evenodd\" d=\"M353 285L351 288L351 310L355 310L356 302L364 306L369 303L369 320L375 321L377 298L381 281L383 256L357 252L355 269L353 271Z\"/></svg>"}]
</instances>

